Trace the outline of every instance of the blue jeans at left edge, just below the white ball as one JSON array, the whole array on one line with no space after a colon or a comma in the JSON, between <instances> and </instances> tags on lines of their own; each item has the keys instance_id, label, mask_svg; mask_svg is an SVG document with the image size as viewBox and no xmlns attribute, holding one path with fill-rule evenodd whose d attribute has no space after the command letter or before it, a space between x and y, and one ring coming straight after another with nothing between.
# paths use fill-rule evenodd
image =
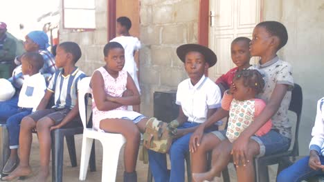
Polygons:
<instances>
[{"instance_id":1,"label":"blue jeans at left edge, just below the white ball","mask_svg":"<svg viewBox=\"0 0 324 182\"><path fill-rule=\"evenodd\" d=\"M10 100L0 101L0 120L6 121L18 112L18 97L19 94L16 93Z\"/></svg>"}]
</instances>

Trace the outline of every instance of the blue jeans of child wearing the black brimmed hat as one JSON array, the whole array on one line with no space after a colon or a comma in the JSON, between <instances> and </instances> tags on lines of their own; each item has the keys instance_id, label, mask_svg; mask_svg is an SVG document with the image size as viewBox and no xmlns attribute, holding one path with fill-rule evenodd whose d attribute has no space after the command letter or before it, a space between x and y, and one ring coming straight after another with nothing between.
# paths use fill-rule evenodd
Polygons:
<instances>
[{"instance_id":1,"label":"blue jeans of child wearing the black brimmed hat","mask_svg":"<svg viewBox=\"0 0 324 182\"><path fill-rule=\"evenodd\" d=\"M199 123L186 122L178 129L192 128ZM185 155L189 152L189 140L192 133L186 134L173 141L169 154L171 162L171 172L168 175L166 154L148 150L150 168L155 182L181 182L185 179Z\"/></svg>"}]
</instances>

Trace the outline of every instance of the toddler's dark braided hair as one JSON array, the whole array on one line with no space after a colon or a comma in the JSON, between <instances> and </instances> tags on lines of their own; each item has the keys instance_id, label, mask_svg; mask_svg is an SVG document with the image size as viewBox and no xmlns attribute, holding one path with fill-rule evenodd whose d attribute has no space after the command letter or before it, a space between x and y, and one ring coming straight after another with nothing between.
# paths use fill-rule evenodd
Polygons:
<instances>
[{"instance_id":1,"label":"toddler's dark braided hair","mask_svg":"<svg viewBox=\"0 0 324 182\"><path fill-rule=\"evenodd\" d=\"M233 80L243 79L243 85L245 87L253 88L255 94L263 92L264 79L262 74L258 70L240 70L235 73Z\"/></svg>"}]
</instances>

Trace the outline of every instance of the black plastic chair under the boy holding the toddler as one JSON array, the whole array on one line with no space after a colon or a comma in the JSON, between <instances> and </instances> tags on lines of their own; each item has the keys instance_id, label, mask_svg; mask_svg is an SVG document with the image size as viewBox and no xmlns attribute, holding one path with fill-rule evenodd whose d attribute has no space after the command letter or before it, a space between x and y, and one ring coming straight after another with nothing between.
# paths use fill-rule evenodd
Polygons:
<instances>
[{"instance_id":1,"label":"black plastic chair under the boy holding the toddler","mask_svg":"<svg viewBox=\"0 0 324 182\"><path fill-rule=\"evenodd\" d=\"M267 182L269 181L268 165L273 165L279 163L278 172L285 168L285 163L287 158L293 159L298 156L298 131L300 124L300 116L303 108L303 92L300 85L294 84L294 90L291 93L291 102L289 105L289 110L296 114L296 132L294 134L293 148L286 152L281 152L278 154L272 154L269 156L262 156L260 158L254 159L254 170L255 170L255 181L257 182ZM226 174L227 173L227 174ZM226 168L223 172L223 180L226 182L230 181L228 175L228 169Z\"/></svg>"}]
</instances>

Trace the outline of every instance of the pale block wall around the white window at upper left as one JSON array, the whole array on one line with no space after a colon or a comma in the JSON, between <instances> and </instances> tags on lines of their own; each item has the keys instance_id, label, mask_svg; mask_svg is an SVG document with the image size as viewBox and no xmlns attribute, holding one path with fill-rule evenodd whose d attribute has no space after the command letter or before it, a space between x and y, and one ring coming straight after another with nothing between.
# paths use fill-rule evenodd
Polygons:
<instances>
[{"instance_id":1,"label":"pale block wall around the white window at upper left","mask_svg":"<svg viewBox=\"0 0 324 182\"><path fill-rule=\"evenodd\" d=\"M107 43L107 0L96 0L96 30L73 32L63 29L62 21L60 27L60 42L74 41L80 45L82 57L77 65L82 71L91 75L93 70L105 64L102 50Z\"/></svg>"}]
</instances>

